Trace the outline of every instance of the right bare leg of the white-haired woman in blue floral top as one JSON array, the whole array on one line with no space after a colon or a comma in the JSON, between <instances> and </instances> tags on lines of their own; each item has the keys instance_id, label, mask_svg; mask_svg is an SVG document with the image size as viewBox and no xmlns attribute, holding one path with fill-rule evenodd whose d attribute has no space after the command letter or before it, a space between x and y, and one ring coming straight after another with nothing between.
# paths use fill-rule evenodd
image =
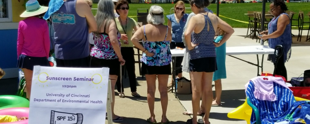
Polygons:
<instances>
[{"instance_id":1,"label":"right bare leg of the white-haired woman in blue floral top","mask_svg":"<svg viewBox=\"0 0 310 124\"><path fill-rule=\"evenodd\" d=\"M167 106L168 106L168 93L166 91L166 86L168 83L169 75L157 75L158 77L158 91L160 93L160 102L162 103L162 122L167 122Z\"/></svg>"}]
</instances>

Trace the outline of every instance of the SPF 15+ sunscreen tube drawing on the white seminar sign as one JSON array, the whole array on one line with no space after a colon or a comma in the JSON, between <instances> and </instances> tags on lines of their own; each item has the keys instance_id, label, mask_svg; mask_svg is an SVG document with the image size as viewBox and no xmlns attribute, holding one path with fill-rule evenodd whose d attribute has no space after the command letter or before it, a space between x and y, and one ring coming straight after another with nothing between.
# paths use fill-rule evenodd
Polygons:
<instances>
[{"instance_id":1,"label":"SPF 15+ sunscreen tube drawing on the white seminar sign","mask_svg":"<svg viewBox=\"0 0 310 124\"><path fill-rule=\"evenodd\" d=\"M50 124L82 124L83 115L80 113L64 113L51 110Z\"/></svg>"}]
</instances>

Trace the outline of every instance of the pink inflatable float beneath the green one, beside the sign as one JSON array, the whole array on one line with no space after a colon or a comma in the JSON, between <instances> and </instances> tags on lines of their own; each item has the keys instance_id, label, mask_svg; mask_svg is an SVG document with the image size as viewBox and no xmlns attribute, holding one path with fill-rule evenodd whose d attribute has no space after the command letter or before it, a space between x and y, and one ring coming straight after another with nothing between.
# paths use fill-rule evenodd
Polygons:
<instances>
[{"instance_id":1,"label":"pink inflatable float beneath the green one, beside the sign","mask_svg":"<svg viewBox=\"0 0 310 124\"><path fill-rule=\"evenodd\" d=\"M11 115L20 117L29 117L29 108L6 108L0 110L0 115ZM17 122L7 122L1 124L28 124L28 119L17 121Z\"/></svg>"}]
</instances>

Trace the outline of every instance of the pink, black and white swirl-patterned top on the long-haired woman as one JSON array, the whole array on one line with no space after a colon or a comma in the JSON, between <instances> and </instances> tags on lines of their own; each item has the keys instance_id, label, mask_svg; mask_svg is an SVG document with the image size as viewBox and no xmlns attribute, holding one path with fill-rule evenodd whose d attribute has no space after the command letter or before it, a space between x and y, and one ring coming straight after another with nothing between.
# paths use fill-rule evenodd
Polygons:
<instances>
[{"instance_id":1,"label":"pink, black and white swirl-patterned top on the long-haired woman","mask_svg":"<svg viewBox=\"0 0 310 124\"><path fill-rule=\"evenodd\" d=\"M121 39L121 33L117 31L117 41L119 47L121 47L119 39ZM91 48L91 56L106 60L112 60L118 58L112 47L109 35L107 33L105 32L100 33L99 36L94 35L94 47Z\"/></svg>"}]
</instances>

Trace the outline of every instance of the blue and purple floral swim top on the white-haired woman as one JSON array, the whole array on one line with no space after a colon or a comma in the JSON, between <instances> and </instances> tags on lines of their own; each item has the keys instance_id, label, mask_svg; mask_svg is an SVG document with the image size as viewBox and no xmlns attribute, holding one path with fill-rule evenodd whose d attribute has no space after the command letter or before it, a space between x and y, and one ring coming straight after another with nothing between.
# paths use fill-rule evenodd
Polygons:
<instances>
[{"instance_id":1,"label":"blue and purple floral swim top on the white-haired woman","mask_svg":"<svg viewBox=\"0 0 310 124\"><path fill-rule=\"evenodd\" d=\"M171 52L170 52L170 41L166 41L168 34L167 33L164 41L161 42L149 42L145 34L145 25L144 25L144 37L146 41L143 41L143 47L148 50L150 53L154 53L154 56L147 56L145 53L142 54L141 62L148 66L164 66L170 64L172 61Z\"/></svg>"}]
</instances>

